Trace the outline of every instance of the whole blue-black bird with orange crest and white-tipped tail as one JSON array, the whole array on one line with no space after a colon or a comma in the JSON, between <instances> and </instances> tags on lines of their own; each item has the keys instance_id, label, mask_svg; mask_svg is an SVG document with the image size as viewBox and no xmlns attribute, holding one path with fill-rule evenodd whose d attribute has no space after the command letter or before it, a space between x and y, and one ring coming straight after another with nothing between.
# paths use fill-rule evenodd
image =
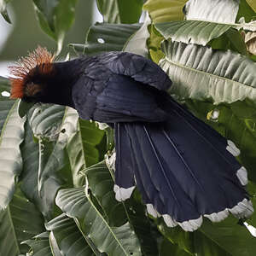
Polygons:
<instances>
[{"instance_id":1,"label":"whole blue-black bird with orange crest and white-tipped tail","mask_svg":"<svg viewBox=\"0 0 256 256\"><path fill-rule=\"evenodd\" d=\"M39 47L10 69L13 98L69 106L113 127L118 201L137 186L149 214L187 231L202 217L253 213L240 150L166 93L172 81L153 61L108 52L54 62Z\"/></svg>"}]
</instances>

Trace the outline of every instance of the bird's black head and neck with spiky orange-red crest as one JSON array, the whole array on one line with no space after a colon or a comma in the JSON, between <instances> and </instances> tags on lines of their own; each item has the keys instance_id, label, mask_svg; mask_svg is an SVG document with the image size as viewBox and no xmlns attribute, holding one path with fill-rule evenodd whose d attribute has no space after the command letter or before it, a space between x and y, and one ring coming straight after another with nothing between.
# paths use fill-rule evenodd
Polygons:
<instances>
[{"instance_id":1,"label":"bird's black head and neck with spiky orange-red crest","mask_svg":"<svg viewBox=\"0 0 256 256\"><path fill-rule=\"evenodd\" d=\"M72 61L54 62L55 55L38 46L15 66L9 67L11 98L20 98L23 112L34 103L55 103L73 107L71 84L73 83ZM20 109L19 109L20 113ZM25 115L25 113L20 114Z\"/></svg>"}]
</instances>

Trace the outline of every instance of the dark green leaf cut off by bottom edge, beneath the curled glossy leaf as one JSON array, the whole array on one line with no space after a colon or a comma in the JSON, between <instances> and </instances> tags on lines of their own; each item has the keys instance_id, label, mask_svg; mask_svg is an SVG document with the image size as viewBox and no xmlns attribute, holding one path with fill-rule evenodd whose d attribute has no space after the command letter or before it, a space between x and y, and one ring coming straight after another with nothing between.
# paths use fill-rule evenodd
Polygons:
<instances>
[{"instance_id":1,"label":"dark green leaf cut off by bottom edge, beneath the curled glossy leaf","mask_svg":"<svg viewBox=\"0 0 256 256\"><path fill-rule=\"evenodd\" d=\"M46 224L47 230L55 237L55 241L66 256L92 256L95 255L84 240L72 218L67 218L63 213ZM61 255L62 255L61 254Z\"/></svg>"}]
</instances>

